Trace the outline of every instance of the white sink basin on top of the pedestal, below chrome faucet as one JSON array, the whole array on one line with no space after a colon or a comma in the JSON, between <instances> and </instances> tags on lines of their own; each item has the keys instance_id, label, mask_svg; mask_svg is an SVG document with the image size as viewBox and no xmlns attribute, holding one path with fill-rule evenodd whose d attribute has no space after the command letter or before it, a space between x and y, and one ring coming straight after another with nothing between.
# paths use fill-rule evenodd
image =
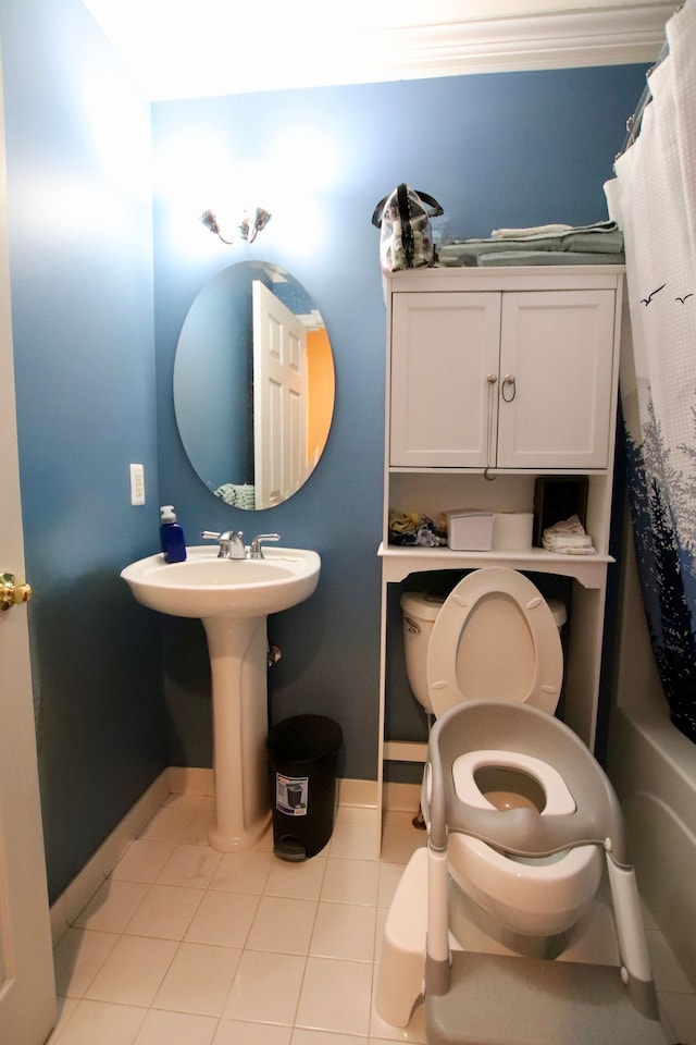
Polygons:
<instances>
[{"instance_id":1,"label":"white sink basin on top of the pedestal, below chrome faucet","mask_svg":"<svg viewBox=\"0 0 696 1045\"><path fill-rule=\"evenodd\" d=\"M217 558L210 545L187 549L185 563L150 555L121 576L144 606L177 617L264 617L309 599L319 581L316 552L264 549L265 558Z\"/></svg>"}]
</instances>

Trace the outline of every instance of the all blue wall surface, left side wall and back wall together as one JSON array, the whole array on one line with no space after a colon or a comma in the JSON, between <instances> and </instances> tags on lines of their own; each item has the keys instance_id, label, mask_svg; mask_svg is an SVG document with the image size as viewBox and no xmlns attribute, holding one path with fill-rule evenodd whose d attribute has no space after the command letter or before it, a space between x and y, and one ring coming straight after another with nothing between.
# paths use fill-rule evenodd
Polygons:
<instances>
[{"instance_id":1,"label":"all blue wall surface, left side wall and back wall together","mask_svg":"<svg viewBox=\"0 0 696 1045\"><path fill-rule=\"evenodd\" d=\"M339 772L377 746L384 306L377 199L401 180L456 235L605 213L644 69L296 90L149 107L78 0L0 0L12 310L39 767L51 897L166 764L210 765L197 622L160 622L119 579L174 503L203 528L279 530L322 555L312 599L270 622L274 721L336 718ZM152 116L152 137L150 127ZM154 225L150 146L154 145ZM256 196L256 199L253 198ZM253 245L198 222L273 211ZM238 217L229 212L231 224ZM336 362L324 456L289 502L249 515L195 476L172 402L178 332L204 283L263 257L320 307ZM159 459L158 459L159 458ZM132 507L128 464L146 467ZM159 467L159 476L158 476ZM160 648L161 640L161 648Z\"/></svg>"}]
</instances>

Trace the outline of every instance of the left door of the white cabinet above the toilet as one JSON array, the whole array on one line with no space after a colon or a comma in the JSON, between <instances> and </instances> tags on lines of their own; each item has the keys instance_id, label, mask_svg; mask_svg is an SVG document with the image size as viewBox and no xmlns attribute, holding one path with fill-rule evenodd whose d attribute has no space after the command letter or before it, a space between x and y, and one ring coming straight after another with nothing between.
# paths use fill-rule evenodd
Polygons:
<instances>
[{"instance_id":1,"label":"left door of the white cabinet above the toilet","mask_svg":"<svg viewBox=\"0 0 696 1045\"><path fill-rule=\"evenodd\" d=\"M494 463L499 337L498 293L394 295L391 466Z\"/></svg>"}]
</instances>

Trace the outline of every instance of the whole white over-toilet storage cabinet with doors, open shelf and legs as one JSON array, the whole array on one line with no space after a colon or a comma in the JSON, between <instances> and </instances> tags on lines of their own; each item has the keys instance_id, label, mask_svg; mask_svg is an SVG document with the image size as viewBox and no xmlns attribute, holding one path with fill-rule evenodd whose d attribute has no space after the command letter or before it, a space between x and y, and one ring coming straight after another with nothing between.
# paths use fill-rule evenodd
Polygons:
<instances>
[{"instance_id":1,"label":"whole white over-toilet storage cabinet with doors, open shelf and legs","mask_svg":"<svg viewBox=\"0 0 696 1045\"><path fill-rule=\"evenodd\" d=\"M427 269L385 281L386 441L380 804L385 761L425 746L384 737L388 586L433 569L572 578L566 722L593 748L604 626L623 268ZM597 554L452 552L388 543L388 514L532 512L540 475L587 476Z\"/></svg>"}]
</instances>

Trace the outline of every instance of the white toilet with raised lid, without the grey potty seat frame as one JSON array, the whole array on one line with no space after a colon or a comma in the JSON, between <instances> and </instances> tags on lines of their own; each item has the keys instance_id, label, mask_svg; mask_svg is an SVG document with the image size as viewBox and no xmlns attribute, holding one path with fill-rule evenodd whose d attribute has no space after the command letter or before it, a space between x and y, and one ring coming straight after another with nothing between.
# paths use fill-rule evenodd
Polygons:
<instances>
[{"instance_id":1,"label":"white toilet with raised lid, without the grey potty seat frame","mask_svg":"<svg viewBox=\"0 0 696 1045\"><path fill-rule=\"evenodd\" d=\"M406 667L419 702L439 718L472 700L527 703L552 715L561 691L562 603L547 603L512 569L469 574L443 600L401 597ZM523 751L469 752L455 764L461 801L478 808L527 806L542 816L569 815L575 802L562 767ZM504 853L456 834L450 874L482 910L506 930L550 936L572 927L593 902L601 876L594 846L544 858Z\"/></svg>"}]
</instances>

